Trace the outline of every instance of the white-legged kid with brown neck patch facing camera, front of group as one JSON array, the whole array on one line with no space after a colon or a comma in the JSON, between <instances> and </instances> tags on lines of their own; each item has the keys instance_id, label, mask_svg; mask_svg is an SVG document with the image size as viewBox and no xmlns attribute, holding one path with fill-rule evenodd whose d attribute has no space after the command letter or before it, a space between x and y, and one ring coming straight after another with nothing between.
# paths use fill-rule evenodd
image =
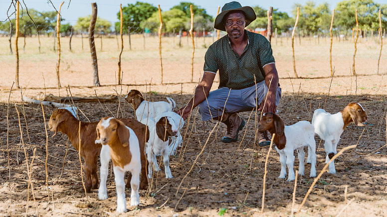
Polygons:
<instances>
[{"instance_id":1,"label":"white-legged kid with brown neck patch facing camera, front of group","mask_svg":"<svg viewBox=\"0 0 387 217\"><path fill-rule=\"evenodd\" d=\"M137 206L140 203L139 185L141 151L139 140L130 127L115 118L102 118L98 123L96 130L97 140L95 140L95 143L101 143L103 146L108 145L110 148L117 192L117 212L125 213L126 199L124 177L126 171L130 171L132 174L130 181L132 189L130 205ZM109 159L106 153L107 152L104 151L104 155L101 155L101 161L103 161L102 158ZM107 159L104 159L105 162L106 160ZM101 170L101 180L103 179L102 176L107 177L107 170Z\"/></svg>"}]
</instances>

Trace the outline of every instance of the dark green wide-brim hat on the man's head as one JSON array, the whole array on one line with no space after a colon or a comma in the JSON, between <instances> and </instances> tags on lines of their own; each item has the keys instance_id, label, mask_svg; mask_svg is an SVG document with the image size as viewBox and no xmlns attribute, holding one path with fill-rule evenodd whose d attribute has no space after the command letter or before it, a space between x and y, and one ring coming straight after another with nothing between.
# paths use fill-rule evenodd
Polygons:
<instances>
[{"instance_id":1,"label":"dark green wide-brim hat on the man's head","mask_svg":"<svg viewBox=\"0 0 387 217\"><path fill-rule=\"evenodd\" d=\"M224 28L224 24L222 21L224 16L232 10L241 10L244 12L245 19L246 19L246 26L248 26L252 21L254 21L257 18L257 16L255 15L254 9L252 7L250 6L242 7L242 5L240 5L239 2L231 1L224 4L224 6L222 7L222 11L215 18L215 24L213 27L216 29L225 31L226 29Z\"/></svg>"}]
</instances>

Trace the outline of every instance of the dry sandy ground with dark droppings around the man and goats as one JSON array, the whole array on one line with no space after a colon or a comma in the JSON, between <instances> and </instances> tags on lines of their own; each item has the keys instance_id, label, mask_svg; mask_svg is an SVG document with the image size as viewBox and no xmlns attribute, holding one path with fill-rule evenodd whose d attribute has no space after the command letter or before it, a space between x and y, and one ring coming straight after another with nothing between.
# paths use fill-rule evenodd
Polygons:
<instances>
[{"instance_id":1,"label":"dry sandy ground with dark droppings around the man and goats","mask_svg":"<svg viewBox=\"0 0 387 217\"><path fill-rule=\"evenodd\" d=\"M173 47L172 38L163 38L163 63L164 81L160 83L160 63L158 57L157 38L146 38L146 49L143 47L142 36L134 36L132 51L128 51L125 39L123 53L123 83L122 94L128 89L137 88L143 92L151 89L153 100L165 100L166 96L173 97L178 107L186 103L192 94L195 83L191 83L191 48L183 38L182 48ZM19 39L20 49L20 85L26 87L24 94L34 97L43 93L58 95L56 87L55 64L57 55L52 49L52 38L42 38L42 53L37 51L37 39L26 38L25 52L22 51L23 39ZM280 75L283 97L278 107L281 117L287 125L299 120L308 120L314 109L323 107L330 89L325 108L328 112L340 111L348 102L357 101L366 108L369 116L365 131L359 139L363 127L351 124L343 133L338 149L358 143L354 150L345 152L336 161L337 174L324 174L317 182L306 205L302 208L300 216L333 216L345 206L344 189L348 185L348 201L354 199L344 213L352 216L386 216L386 170L387 149L378 150L386 144L386 79L387 51L382 53L380 74L376 74L377 60L380 44L369 39L363 39L358 44L356 57L357 76L351 76L352 58L354 47L351 42L334 40L333 65L335 77L331 83L329 69L329 44L328 39L320 38L320 43L315 39L298 39L295 41L296 64L298 74L302 78L294 78L292 70L292 57L290 39L283 38L275 43L273 39L273 53L276 66ZM212 38L206 38L206 45ZM175 39L175 44L178 38ZM70 85L71 92L76 96L116 94L113 89L121 92L121 86L115 87L115 71L117 70L117 43L115 38L103 38L103 51L100 51L100 39L96 39L97 56L99 58L99 74L102 87L92 86L91 62L88 53L88 44L84 39L84 50L81 49L80 38L73 38L73 52L68 50L68 38L61 39L62 86ZM203 39L198 38L198 47L195 52L194 81L197 82L202 73ZM3 117L0 125L2 150L0 153L0 213L5 216L24 215L27 199L27 173L25 157L20 145L20 132L15 108L20 104L20 90L12 90L9 106L9 159L11 178L8 175L7 142L6 142L6 113L9 89L14 77L14 55L9 54L7 38L0 38L0 113ZM289 75L291 79L289 79ZM44 75L44 83L43 77ZM74 79L75 78L75 79ZM217 79L217 78L216 78ZM152 80L151 87L144 85ZM43 86L47 88L44 89ZM216 89L217 83L213 89ZM61 96L67 95L66 89L59 90ZM311 104L310 104L311 103ZM105 103L115 115L118 103ZM48 132L48 184L53 203L48 202L45 186L45 132L41 107L38 105L24 104L26 122L31 143L26 135L24 118L21 117L23 140L26 144L28 162L32 158L32 150L36 148L35 160L32 167L32 182L35 188L36 204L28 204L28 215L39 216L115 216L116 194L114 176L108 178L108 195L106 201L99 201L97 191L89 194L91 206L82 208L86 204L77 152L69 144L68 154L64 164L63 174L61 168L66 153L67 136L58 134L54 138ZM85 112L91 121L98 121L105 116L107 109L102 109L98 103L81 103L79 108ZM310 109L311 106L311 109ZM21 107L20 110L22 110ZM48 118L53 108L44 107L45 118ZM196 111L194 111L195 114ZM134 117L134 111L127 104L122 105L124 117ZM248 120L250 113L242 113ZM82 120L86 120L83 116ZM194 125L193 125L194 123ZM177 187L194 163L194 159L205 144L212 123L202 123L199 115L192 117L187 130L184 146L185 152L171 157L171 169L174 178L166 180L164 171L154 181L151 197L146 198L146 192L140 191L138 208L128 207L126 215L141 216L172 216L174 214L187 216L216 216L219 209L226 208L225 215L229 216L258 216L261 208L262 183L264 161L267 148L258 149L254 146L254 114L241 131L244 135L242 142L222 144L220 139L224 133L221 125L216 133L212 134L198 158L193 171L182 184L182 188L175 197ZM204 126L204 129L203 129ZM183 135L184 136L184 135ZM190 138L190 139L188 139ZM324 167L325 152L323 144L316 137L317 146L317 172ZM161 167L163 168L163 167ZM295 169L298 168L297 161ZM280 171L279 155L274 150L270 153L268 174L266 182L265 216L289 216L294 182L278 179ZM298 180L296 193L296 208L313 182L307 176L310 165L306 166L305 176ZM162 188L164 187L164 188ZM160 191L159 191L160 190ZM183 192L186 193L175 209ZM129 194L130 191L127 191ZM50 197L51 200L51 197ZM127 195L127 203L130 197ZM167 201L168 200L168 201ZM165 203L167 201L167 203ZM163 204L165 205L162 208Z\"/></svg>"}]
</instances>

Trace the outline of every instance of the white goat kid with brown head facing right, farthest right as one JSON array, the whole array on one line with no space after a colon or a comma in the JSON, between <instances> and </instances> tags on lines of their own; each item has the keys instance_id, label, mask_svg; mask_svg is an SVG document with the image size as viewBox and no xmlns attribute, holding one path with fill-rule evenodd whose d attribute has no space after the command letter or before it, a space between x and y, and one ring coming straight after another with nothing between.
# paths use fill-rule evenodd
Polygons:
<instances>
[{"instance_id":1,"label":"white goat kid with brown head facing right, farthest right","mask_svg":"<svg viewBox=\"0 0 387 217\"><path fill-rule=\"evenodd\" d=\"M337 144L344 129L354 122L357 126L364 126L367 121L367 112L360 103L351 102L341 112L330 114L324 109L316 109L313 113L312 125L315 133L324 140L324 148L327 156L325 163L328 163L337 153ZM308 150L309 153L309 150ZM307 163L310 163L308 156ZM335 161L329 164L329 173L336 174Z\"/></svg>"}]
</instances>

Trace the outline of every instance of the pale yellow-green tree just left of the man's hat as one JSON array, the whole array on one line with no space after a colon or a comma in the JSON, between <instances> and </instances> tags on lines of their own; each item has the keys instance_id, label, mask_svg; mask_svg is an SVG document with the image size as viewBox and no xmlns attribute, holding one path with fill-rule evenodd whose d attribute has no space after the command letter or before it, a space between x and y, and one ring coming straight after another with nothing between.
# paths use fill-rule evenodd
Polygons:
<instances>
[{"instance_id":1,"label":"pale yellow-green tree just left of the man's hat","mask_svg":"<svg viewBox=\"0 0 387 217\"><path fill-rule=\"evenodd\" d=\"M183 28L187 30L186 24L189 19L180 9L171 9L161 12L163 23L163 31L172 32L174 28ZM140 25L142 28L149 28L153 32L157 32L160 26L159 12L154 12L151 17L143 21Z\"/></svg>"}]
</instances>

